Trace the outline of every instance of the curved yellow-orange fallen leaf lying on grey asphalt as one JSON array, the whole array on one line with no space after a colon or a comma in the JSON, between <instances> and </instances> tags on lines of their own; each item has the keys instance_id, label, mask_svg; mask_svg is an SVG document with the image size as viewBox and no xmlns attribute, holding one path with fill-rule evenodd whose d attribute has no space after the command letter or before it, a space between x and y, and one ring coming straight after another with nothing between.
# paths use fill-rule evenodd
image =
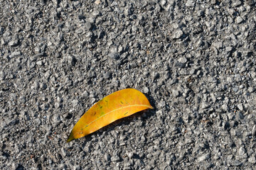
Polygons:
<instances>
[{"instance_id":1,"label":"curved yellow-orange fallen leaf lying on grey asphalt","mask_svg":"<svg viewBox=\"0 0 256 170\"><path fill-rule=\"evenodd\" d=\"M84 137L120 118L147 108L153 109L142 92L135 89L116 91L95 103L75 124L67 142Z\"/></svg>"}]
</instances>

